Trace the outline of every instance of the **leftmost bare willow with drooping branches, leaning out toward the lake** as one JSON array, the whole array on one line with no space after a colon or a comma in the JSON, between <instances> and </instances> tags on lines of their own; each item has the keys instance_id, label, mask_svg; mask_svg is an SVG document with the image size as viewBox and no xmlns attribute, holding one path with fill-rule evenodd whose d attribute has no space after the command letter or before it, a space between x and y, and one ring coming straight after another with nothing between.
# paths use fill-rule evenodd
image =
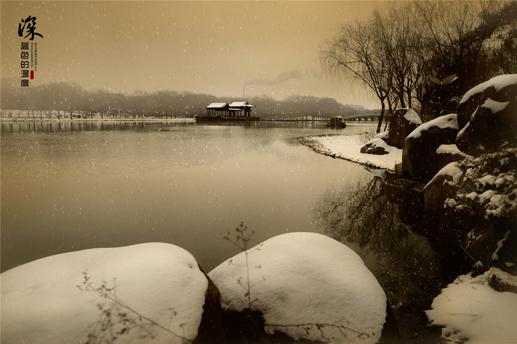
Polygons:
<instances>
[{"instance_id":1,"label":"leftmost bare willow with drooping branches, leaning out toward the lake","mask_svg":"<svg viewBox=\"0 0 517 344\"><path fill-rule=\"evenodd\" d=\"M381 132L393 66L382 49L377 26L372 21L343 25L336 36L320 47L320 60L323 69L333 76L358 80L373 91L381 102L377 133Z\"/></svg>"}]
</instances>

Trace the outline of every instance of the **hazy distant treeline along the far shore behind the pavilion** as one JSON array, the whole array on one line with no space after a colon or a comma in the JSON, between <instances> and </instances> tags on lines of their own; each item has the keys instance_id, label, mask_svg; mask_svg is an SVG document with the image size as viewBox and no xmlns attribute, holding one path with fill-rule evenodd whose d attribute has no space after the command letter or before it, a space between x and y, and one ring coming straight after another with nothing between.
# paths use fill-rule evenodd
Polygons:
<instances>
[{"instance_id":1,"label":"hazy distant treeline along the far shore behind the pavilion","mask_svg":"<svg viewBox=\"0 0 517 344\"><path fill-rule=\"evenodd\" d=\"M210 94L177 91L145 92L132 94L112 93L106 90L85 90L77 83L52 83L37 87L20 87L16 78L2 78L2 110L36 110L44 113L58 112L70 117L80 111L83 116L130 116L130 117L185 117L205 114L210 103L243 101L240 97L229 99ZM267 95L250 96L244 101L256 105L255 116L263 118L293 118L314 116L352 116L359 113L378 113L362 106L341 104L328 97L291 95L277 101Z\"/></svg>"}]
</instances>

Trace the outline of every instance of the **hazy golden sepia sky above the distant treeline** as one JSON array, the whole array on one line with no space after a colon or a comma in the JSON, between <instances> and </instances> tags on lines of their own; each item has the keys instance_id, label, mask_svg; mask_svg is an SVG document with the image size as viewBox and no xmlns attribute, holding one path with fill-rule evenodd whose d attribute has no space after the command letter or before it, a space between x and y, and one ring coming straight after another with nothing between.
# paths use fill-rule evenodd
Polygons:
<instances>
[{"instance_id":1,"label":"hazy golden sepia sky above the distant treeline","mask_svg":"<svg viewBox=\"0 0 517 344\"><path fill-rule=\"evenodd\" d=\"M2 1L1 76L21 78L22 41L37 47L31 86L74 81L112 92L176 90L282 100L332 97L378 108L360 84L322 73L320 46L369 1ZM30 41L21 20L36 17ZM22 24L23 25L23 24ZM28 31L24 31L25 32ZM30 38L30 36L29 36ZM34 68L32 68L33 70Z\"/></svg>"}]
</instances>

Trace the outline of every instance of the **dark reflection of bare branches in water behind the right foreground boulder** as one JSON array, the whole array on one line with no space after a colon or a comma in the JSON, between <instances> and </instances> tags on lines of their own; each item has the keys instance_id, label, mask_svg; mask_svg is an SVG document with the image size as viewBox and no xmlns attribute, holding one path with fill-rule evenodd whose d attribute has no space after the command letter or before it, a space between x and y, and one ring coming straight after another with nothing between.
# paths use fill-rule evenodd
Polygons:
<instances>
[{"instance_id":1,"label":"dark reflection of bare branches in water behind the right foreground boulder","mask_svg":"<svg viewBox=\"0 0 517 344\"><path fill-rule=\"evenodd\" d=\"M438 291L438 256L427 239L400 222L398 205L388 201L381 178L330 189L314 211L328 236L361 256L394 308L407 312L430 306Z\"/></svg>"}]
</instances>

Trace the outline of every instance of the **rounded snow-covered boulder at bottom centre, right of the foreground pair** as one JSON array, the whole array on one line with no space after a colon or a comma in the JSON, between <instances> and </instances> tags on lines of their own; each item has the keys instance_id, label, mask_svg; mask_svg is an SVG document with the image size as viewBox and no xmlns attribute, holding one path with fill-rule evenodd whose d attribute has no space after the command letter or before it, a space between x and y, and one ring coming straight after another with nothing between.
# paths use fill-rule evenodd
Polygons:
<instances>
[{"instance_id":1,"label":"rounded snow-covered boulder at bottom centre, right of the foreground pair","mask_svg":"<svg viewBox=\"0 0 517 344\"><path fill-rule=\"evenodd\" d=\"M287 233L247 252L248 271L242 252L208 273L224 309L248 308L249 272L251 309L262 312L266 332L296 340L378 341L386 296L354 251L325 235Z\"/></svg>"}]
</instances>

